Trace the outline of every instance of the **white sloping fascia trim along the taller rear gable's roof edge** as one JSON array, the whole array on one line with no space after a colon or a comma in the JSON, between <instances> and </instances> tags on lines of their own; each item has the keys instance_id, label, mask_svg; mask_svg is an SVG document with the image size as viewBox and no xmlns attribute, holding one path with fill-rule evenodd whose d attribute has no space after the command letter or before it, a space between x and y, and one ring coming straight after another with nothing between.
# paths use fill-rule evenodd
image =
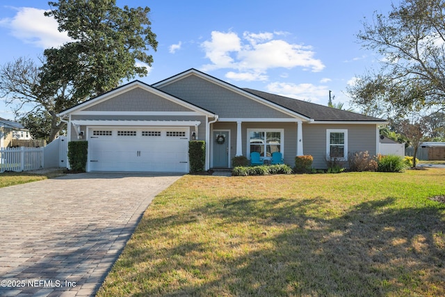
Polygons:
<instances>
[{"instance_id":1,"label":"white sloping fascia trim along the taller rear gable's roof edge","mask_svg":"<svg viewBox=\"0 0 445 297\"><path fill-rule=\"evenodd\" d=\"M310 118L305 117L304 115L300 115L300 113L296 113L295 111L291 111L289 109L286 109L283 106L280 106L278 104L275 104L273 102L270 102L266 99L263 99L261 97L258 97L257 95L254 95L252 93L248 93L245 90L238 88L230 83L227 83L225 81L222 81L220 79L216 79L215 77L211 77L208 74L205 74L203 72L197 72L194 69L188 70L186 72L181 73L180 75L177 75L175 77L170 77L170 79L166 79L164 81L160 81L159 83L155 83L153 86L158 88L159 86L168 86L170 83L173 83L179 79L184 79L185 77L188 77L192 74L197 75L198 77L201 77L202 79L205 79L207 81L210 81L211 83L216 83L218 86L221 86L223 88L226 88L227 90L231 90L234 93L238 93L239 95L243 95L244 97L248 97L256 102L259 102L261 104L264 104L272 109L275 109L276 111L280 111L286 115L291 115L293 117L302 118L304 120L311 120Z\"/></svg>"}]
</instances>

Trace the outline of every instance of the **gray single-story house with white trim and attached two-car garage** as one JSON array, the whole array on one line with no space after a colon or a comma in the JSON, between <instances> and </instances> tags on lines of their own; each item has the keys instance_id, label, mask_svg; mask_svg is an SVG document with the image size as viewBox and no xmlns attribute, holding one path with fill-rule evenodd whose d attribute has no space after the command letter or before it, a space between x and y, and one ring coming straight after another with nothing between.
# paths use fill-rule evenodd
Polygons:
<instances>
[{"instance_id":1,"label":"gray single-story house with white trim and attached two-car garage","mask_svg":"<svg viewBox=\"0 0 445 297\"><path fill-rule=\"evenodd\" d=\"M243 89L195 69L149 86L140 81L59 114L70 141L88 140L87 171L188 172L188 141L206 142L205 169L230 168L234 156L326 156L379 147L385 120ZM347 164L347 162L346 162Z\"/></svg>"}]
</instances>

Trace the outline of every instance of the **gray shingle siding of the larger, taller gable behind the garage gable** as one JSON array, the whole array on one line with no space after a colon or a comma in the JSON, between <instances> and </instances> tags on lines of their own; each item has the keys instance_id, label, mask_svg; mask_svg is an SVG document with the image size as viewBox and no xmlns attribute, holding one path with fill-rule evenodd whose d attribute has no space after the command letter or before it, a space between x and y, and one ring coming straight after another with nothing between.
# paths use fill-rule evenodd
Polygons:
<instances>
[{"instance_id":1,"label":"gray shingle siding of the larger, taller gable behind the garage gable","mask_svg":"<svg viewBox=\"0 0 445 297\"><path fill-rule=\"evenodd\" d=\"M161 86L160 89L217 113L220 118L291 118L281 111L195 75Z\"/></svg>"}]
</instances>

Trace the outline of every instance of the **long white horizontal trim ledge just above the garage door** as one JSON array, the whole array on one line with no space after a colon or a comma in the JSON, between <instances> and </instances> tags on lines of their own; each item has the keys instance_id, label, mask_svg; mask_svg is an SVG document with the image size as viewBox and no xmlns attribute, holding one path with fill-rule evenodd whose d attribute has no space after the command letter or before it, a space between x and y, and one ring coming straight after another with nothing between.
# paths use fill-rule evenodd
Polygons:
<instances>
[{"instance_id":1,"label":"long white horizontal trim ledge just above the garage door","mask_svg":"<svg viewBox=\"0 0 445 297\"><path fill-rule=\"evenodd\" d=\"M72 125L79 126L199 126L197 120L71 120Z\"/></svg>"}]
</instances>

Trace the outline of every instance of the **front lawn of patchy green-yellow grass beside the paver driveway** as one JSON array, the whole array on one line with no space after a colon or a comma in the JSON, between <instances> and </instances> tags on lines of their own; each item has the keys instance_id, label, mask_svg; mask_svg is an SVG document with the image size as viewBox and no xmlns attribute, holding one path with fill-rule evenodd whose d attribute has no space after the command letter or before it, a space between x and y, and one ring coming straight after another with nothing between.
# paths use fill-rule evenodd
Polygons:
<instances>
[{"instance_id":1,"label":"front lawn of patchy green-yellow grass beside the paver driveway","mask_svg":"<svg viewBox=\"0 0 445 297\"><path fill-rule=\"evenodd\" d=\"M445 296L445 170L211 177L155 198L98 296Z\"/></svg>"}]
</instances>

